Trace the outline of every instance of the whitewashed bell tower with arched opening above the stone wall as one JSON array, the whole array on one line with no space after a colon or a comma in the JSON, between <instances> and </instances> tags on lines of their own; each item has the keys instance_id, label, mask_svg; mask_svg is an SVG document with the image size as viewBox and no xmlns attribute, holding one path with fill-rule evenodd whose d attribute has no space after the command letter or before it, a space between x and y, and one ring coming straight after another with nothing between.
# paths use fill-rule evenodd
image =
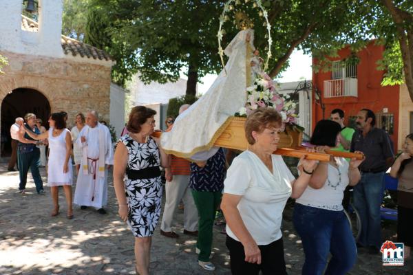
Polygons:
<instances>
[{"instance_id":1,"label":"whitewashed bell tower with arched opening above the stone wall","mask_svg":"<svg viewBox=\"0 0 413 275\"><path fill-rule=\"evenodd\" d=\"M21 15L23 3L37 8L38 21ZM32 5L32 3L35 3ZM63 0L7 0L0 8L0 51L33 56L63 57Z\"/></svg>"}]
</instances>

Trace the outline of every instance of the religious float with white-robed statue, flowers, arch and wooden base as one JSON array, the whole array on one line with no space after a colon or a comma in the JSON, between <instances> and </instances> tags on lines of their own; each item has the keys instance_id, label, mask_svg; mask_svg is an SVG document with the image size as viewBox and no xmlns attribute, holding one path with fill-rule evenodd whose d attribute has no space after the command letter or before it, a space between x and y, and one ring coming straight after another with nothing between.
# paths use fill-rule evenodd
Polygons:
<instances>
[{"instance_id":1,"label":"religious float with white-robed statue, flowers, arch and wooden base","mask_svg":"<svg viewBox=\"0 0 413 275\"><path fill-rule=\"evenodd\" d=\"M222 72L207 93L178 116L173 129L162 133L162 147L169 154L193 161L208 159L219 147L244 151L248 148L244 133L246 116L259 107L270 107L282 115L284 124L275 154L305 156L325 162L329 161L330 155L362 159L361 154L338 151L310 153L300 146L304 128L297 124L296 105L288 96L277 93L275 83L265 73L272 44L268 13L261 0L251 1L251 4L264 18L268 43L265 48L266 59L260 57L259 50L254 46L253 22L236 8L240 6L240 1L227 1L220 16L217 35ZM228 14L233 14L239 32L223 49L222 37L226 33L223 25L231 19ZM228 57L226 63L224 55Z\"/></svg>"}]
</instances>

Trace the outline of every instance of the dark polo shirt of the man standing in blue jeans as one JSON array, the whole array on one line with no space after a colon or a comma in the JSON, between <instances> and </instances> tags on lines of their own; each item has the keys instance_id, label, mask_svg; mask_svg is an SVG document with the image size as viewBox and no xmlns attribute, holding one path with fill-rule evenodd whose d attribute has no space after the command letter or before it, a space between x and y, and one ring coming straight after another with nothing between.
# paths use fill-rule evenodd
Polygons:
<instances>
[{"instance_id":1,"label":"dark polo shirt of the man standing in blue jeans","mask_svg":"<svg viewBox=\"0 0 413 275\"><path fill-rule=\"evenodd\" d=\"M363 137L363 131L357 130L351 140L350 152L361 151L366 155L359 169L363 172L381 172L388 167L385 159L394 157L390 136L384 130L372 128Z\"/></svg>"}]
</instances>

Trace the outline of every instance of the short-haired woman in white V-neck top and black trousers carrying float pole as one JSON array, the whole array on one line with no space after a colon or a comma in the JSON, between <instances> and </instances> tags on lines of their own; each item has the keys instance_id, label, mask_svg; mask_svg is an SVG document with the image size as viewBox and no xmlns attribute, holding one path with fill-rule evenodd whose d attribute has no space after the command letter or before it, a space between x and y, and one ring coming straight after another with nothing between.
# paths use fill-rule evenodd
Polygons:
<instances>
[{"instance_id":1,"label":"short-haired woman in white V-neck top and black trousers carrying float pole","mask_svg":"<svg viewBox=\"0 0 413 275\"><path fill-rule=\"evenodd\" d=\"M221 209L226 219L226 247L232 274L286 274L280 230L288 197L297 198L310 173L295 179L279 155L282 118L260 108L245 122L250 148L233 159L224 181ZM301 159L299 169L312 171L317 162Z\"/></svg>"}]
</instances>

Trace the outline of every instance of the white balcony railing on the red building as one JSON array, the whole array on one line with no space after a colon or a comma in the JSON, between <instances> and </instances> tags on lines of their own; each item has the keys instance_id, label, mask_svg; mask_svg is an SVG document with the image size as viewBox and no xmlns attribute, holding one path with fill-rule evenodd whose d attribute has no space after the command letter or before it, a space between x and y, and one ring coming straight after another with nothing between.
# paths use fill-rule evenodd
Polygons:
<instances>
[{"instance_id":1,"label":"white balcony railing on the red building","mask_svg":"<svg viewBox=\"0 0 413 275\"><path fill-rule=\"evenodd\" d=\"M341 78L324 81L324 98L338 96L357 97L357 78Z\"/></svg>"}]
</instances>

